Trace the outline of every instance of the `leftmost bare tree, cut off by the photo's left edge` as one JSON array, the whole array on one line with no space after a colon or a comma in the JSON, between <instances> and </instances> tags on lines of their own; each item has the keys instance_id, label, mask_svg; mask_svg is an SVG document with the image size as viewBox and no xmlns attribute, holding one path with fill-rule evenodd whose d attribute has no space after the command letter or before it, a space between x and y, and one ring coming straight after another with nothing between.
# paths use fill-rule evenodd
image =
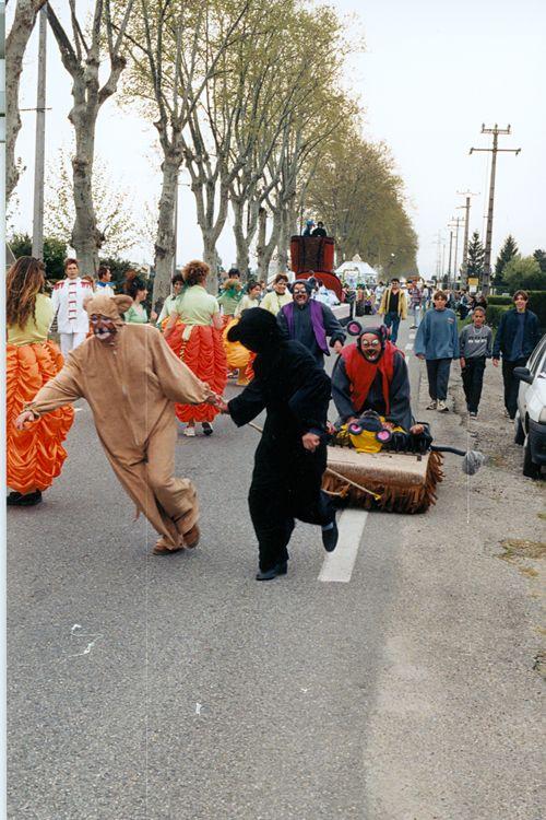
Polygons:
<instances>
[{"instance_id":1,"label":"leftmost bare tree, cut off by the photo's left edge","mask_svg":"<svg viewBox=\"0 0 546 820\"><path fill-rule=\"evenodd\" d=\"M15 160L15 142L21 130L19 86L26 46L36 15L46 0L17 0L13 23L5 39L5 198L10 199L21 175Z\"/></svg>"}]
</instances>

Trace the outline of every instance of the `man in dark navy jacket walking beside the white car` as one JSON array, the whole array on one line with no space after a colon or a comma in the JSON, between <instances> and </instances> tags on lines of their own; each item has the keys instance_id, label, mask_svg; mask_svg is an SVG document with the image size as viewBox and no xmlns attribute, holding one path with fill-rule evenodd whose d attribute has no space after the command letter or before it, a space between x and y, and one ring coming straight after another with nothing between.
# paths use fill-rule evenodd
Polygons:
<instances>
[{"instance_id":1,"label":"man in dark navy jacket walking beside the white car","mask_svg":"<svg viewBox=\"0 0 546 820\"><path fill-rule=\"evenodd\" d=\"M514 378L515 367L524 367L526 361L541 339L538 317L527 311L529 295L525 291L515 291L514 307L507 311L500 319L499 329L492 345L492 363L499 366L502 355L502 380L505 382L505 415L515 418L518 410L519 379Z\"/></svg>"}]
</instances>

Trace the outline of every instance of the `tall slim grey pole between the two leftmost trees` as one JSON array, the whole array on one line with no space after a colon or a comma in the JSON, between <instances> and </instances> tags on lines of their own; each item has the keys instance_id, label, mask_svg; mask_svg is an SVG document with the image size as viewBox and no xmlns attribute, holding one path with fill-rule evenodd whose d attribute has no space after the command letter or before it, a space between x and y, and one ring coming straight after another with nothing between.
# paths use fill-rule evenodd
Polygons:
<instances>
[{"instance_id":1,"label":"tall slim grey pole between the two leftmost trees","mask_svg":"<svg viewBox=\"0 0 546 820\"><path fill-rule=\"evenodd\" d=\"M36 154L34 157L33 256L44 257L44 185L46 156L46 44L47 10L39 13L38 90L36 95Z\"/></svg>"}]
</instances>

